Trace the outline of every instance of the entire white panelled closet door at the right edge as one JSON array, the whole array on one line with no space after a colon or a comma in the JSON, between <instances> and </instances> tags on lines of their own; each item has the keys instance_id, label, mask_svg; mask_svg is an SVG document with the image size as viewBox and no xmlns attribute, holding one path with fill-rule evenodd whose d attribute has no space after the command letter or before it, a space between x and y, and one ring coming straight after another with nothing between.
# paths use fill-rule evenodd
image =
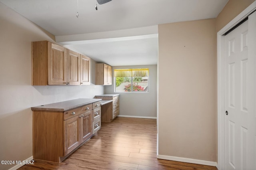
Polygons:
<instances>
[{"instance_id":1,"label":"entire white panelled closet door at the right edge","mask_svg":"<svg viewBox=\"0 0 256 170\"><path fill-rule=\"evenodd\" d=\"M256 12L225 36L225 170L256 170Z\"/></svg>"}]
</instances>

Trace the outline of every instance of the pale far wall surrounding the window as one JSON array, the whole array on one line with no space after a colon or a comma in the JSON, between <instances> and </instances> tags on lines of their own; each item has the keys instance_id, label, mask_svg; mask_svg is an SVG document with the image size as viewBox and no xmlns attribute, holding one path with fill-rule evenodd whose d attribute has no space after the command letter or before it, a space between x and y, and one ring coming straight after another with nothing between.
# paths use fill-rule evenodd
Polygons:
<instances>
[{"instance_id":1,"label":"pale far wall surrounding the window","mask_svg":"<svg viewBox=\"0 0 256 170\"><path fill-rule=\"evenodd\" d=\"M104 87L105 94L120 94L120 115L135 117L156 117L157 65L116 66L114 69L149 69L149 93L115 93L114 82ZM113 79L114 81L114 79Z\"/></svg>"}]
</instances>

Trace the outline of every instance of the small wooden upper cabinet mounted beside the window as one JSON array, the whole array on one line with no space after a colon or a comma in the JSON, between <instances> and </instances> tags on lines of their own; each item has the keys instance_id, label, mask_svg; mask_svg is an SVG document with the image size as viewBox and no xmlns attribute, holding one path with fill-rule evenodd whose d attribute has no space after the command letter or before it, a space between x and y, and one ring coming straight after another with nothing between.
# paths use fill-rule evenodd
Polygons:
<instances>
[{"instance_id":1,"label":"small wooden upper cabinet mounted beside the window","mask_svg":"<svg viewBox=\"0 0 256 170\"><path fill-rule=\"evenodd\" d=\"M104 63L97 63L95 85L112 85L112 67Z\"/></svg>"}]
</instances>

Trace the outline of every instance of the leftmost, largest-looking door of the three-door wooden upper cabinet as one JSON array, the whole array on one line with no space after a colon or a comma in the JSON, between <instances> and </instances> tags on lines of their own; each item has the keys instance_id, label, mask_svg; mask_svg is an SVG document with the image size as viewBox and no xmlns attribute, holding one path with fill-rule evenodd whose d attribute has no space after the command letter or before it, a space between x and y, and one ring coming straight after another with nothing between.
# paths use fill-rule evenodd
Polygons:
<instances>
[{"instance_id":1,"label":"leftmost, largest-looking door of the three-door wooden upper cabinet","mask_svg":"<svg viewBox=\"0 0 256 170\"><path fill-rule=\"evenodd\" d=\"M48 85L64 85L67 82L67 50L48 42Z\"/></svg>"}]
</instances>

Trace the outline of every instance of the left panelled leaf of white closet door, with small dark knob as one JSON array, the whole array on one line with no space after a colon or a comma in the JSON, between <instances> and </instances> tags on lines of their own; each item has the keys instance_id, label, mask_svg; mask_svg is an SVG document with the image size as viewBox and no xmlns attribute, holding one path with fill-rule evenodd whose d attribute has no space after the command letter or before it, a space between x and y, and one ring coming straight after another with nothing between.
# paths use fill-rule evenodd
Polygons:
<instances>
[{"instance_id":1,"label":"left panelled leaf of white closet door, with small dark knob","mask_svg":"<svg viewBox=\"0 0 256 170\"><path fill-rule=\"evenodd\" d=\"M242 155L243 143L241 141L241 128L248 128L246 122L247 93L246 75L248 60L248 48L246 48L246 32L248 32L248 21L225 36L225 109L228 115L225 117L225 157L226 169L234 170L242 168L246 159ZM244 109L243 109L244 108ZM246 154L246 153L244 153ZM245 161L245 162L244 162Z\"/></svg>"}]
</instances>

